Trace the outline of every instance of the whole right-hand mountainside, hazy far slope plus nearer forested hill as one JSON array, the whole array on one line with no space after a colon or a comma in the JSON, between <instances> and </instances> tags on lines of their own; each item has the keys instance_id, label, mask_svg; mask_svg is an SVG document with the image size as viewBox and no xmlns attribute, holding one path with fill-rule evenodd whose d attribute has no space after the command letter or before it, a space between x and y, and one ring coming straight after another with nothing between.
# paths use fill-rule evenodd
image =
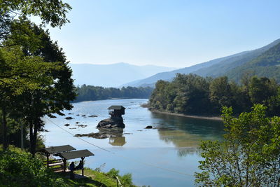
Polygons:
<instances>
[{"instance_id":1,"label":"whole right-hand mountainside, hazy far slope plus nearer forested hill","mask_svg":"<svg viewBox=\"0 0 280 187\"><path fill-rule=\"evenodd\" d=\"M280 82L280 39L267 46L248 50L227 57L210 60L191 67L160 72L148 78L126 83L125 86L154 86L158 80L172 81L176 74L197 74L199 76L228 76L240 81L244 74L267 76Z\"/></svg>"}]
</instances>

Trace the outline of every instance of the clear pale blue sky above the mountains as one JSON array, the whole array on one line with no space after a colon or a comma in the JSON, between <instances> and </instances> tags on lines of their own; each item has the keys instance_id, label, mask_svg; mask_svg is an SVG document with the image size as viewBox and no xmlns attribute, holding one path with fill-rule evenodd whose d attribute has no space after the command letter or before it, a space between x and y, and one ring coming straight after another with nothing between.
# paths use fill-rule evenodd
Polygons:
<instances>
[{"instance_id":1,"label":"clear pale blue sky above the mountains","mask_svg":"<svg viewBox=\"0 0 280 187\"><path fill-rule=\"evenodd\" d=\"M280 38L280 1L78 0L50 29L71 63L189 67Z\"/></svg>"}]
</instances>

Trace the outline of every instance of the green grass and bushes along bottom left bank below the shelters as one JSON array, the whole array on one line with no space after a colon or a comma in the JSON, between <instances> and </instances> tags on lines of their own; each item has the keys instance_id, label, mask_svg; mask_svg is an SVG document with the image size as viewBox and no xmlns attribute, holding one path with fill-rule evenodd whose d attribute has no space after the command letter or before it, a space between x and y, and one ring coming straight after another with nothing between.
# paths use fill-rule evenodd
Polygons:
<instances>
[{"instance_id":1,"label":"green grass and bushes along bottom left bank below the shelters","mask_svg":"<svg viewBox=\"0 0 280 187\"><path fill-rule=\"evenodd\" d=\"M85 179L69 179L69 173L57 174L43 165L43 157L32 158L27 151L10 146L0 147L0 186L117 186L116 176L123 186L134 186L132 174L120 176L117 169L105 173L100 169L85 168ZM75 171L80 174L81 170ZM135 186L136 187L136 186Z\"/></svg>"}]
</instances>

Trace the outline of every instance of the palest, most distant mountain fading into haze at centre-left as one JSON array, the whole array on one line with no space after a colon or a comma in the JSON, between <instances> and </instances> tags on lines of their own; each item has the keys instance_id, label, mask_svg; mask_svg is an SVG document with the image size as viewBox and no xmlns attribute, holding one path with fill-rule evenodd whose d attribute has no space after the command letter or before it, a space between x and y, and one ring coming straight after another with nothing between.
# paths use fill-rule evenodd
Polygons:
<instances>
[{"instance_id":1,"label":"palest, most distant mountain fading into haze at centre-left","mask_svg":"<svg viewBox=\"0 0 280 187\"><path fill-rule=\"evenodd\" d=\"M99 85L118 87L124 83L146 78L162 71L170 71L172 67L153 65L136 66L127 63L116 64L69 64L73 71L75 85Z\"/></svg>"}]
</instances>

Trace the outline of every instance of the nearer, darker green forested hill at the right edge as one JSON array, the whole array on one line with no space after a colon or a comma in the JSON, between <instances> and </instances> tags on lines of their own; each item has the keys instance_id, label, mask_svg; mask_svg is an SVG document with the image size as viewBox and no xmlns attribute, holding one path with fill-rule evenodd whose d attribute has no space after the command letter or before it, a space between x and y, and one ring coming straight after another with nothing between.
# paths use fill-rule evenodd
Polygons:
<instances>
[{"instance_id":1,"label":"nearer, darker green forested hill at the right edge","mask_svg":"<svg viewBox=\"0 0 280 187\"><path fill-rule=\"evenodd\" d=\"M280 83L280 43L250 62L226 73L234 81L240 81L244 74L275 78L276 82Z\"/></svg>"}]
</instances>

